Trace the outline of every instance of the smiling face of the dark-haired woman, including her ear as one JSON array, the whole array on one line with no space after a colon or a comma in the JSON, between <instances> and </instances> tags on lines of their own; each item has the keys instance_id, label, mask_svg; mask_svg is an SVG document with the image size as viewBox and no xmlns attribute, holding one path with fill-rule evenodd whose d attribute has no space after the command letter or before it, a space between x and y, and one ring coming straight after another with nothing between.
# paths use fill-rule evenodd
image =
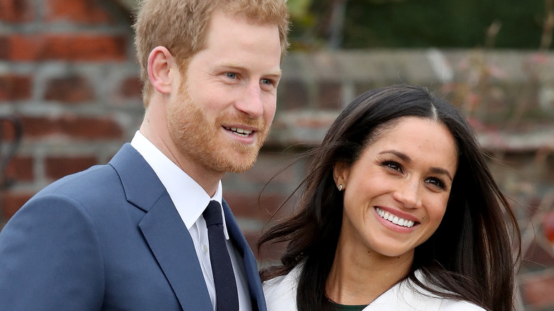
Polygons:
<instances>
[{"instance_id":1,"label":"smiling face of the dark-haired woman, including her ear","mask_svg":"<svg viewBox=\"0 0 554 311\"><path fill-rule=\"evenodd\" d=\"M443 124L408 116L366 146L352 166L335 165L335 181L344 187L341 247L413 256L445 214L457 161L455 140Z\"/></svg>"}]
</instances>

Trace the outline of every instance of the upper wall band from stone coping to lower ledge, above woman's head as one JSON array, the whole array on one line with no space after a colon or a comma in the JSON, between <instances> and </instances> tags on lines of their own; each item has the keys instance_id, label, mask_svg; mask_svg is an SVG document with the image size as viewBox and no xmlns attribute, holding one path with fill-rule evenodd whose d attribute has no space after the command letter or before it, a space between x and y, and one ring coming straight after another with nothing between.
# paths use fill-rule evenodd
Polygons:
<instances>
[{"instance_id":1,"label":"upper wall band from stone coping to lower ledge, above woman's head","mask_svg":"<svg viewBox=\"0 0 554 311\"><path fill-rule=\"evenodd\" d=\"M523 50L353 50L290 53L266 146L319 143L367 89L429 87L460 107L484 148L554 150L554 53Z\"/></svg>"}]
</instances>

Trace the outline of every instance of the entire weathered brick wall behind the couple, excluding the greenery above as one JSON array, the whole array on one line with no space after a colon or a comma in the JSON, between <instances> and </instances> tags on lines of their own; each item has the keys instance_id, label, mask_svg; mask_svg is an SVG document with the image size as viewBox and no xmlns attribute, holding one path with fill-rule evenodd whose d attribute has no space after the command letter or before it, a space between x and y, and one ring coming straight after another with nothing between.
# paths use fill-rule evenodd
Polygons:
<instances>
[{"instance_id":1,"label":"entire weathered brick wall behind the couple, excluding the greenery above","mask_svg":"<svg viewBox=\"0 0 554 311\"><path fill-rule=\"evenodd\" d=\"M0 118L15 117L23 126L16 155L0 176L0 228L45 185L107 163L138 129L143 107L130 25L129 13L111 0L0 0ZM369 88L420 84L461 107L496 158L491 168L514 200L525 234L522 303L525 310L554 308L554 251L543 224L554 210L553 53L290 53L282 68L278 112L259 160L223 180L252 246L302 180L304 163L266 182L318 143L342 107ZM2 121L0 163L14 135ZM293 201L274 218L288 214ZM278 248L259 253L261 264L277 258Z\"/></svg>"}]
</instances>

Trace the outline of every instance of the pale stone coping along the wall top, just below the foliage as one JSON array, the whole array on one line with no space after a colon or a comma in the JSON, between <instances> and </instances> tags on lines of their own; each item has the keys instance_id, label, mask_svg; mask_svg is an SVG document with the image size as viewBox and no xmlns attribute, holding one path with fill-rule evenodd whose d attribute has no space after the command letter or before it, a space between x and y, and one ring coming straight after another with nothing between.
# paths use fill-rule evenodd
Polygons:
<instances>
[{"instance_id":1,"label":"pale stone coping along the wall top, just below the foliage","mask_svg":"<svg viewBox=\"0 0 554 311\"><path fill-rule=\"evenodd\" d=\"M487 69L498 80L527 82L533 70L539 80L554 82L553 66L554 53L430 48L293 52L285 56L281 67L283 81L426 84L465 80L463 74L472 67Z\"/></svg>"}]
</instances>

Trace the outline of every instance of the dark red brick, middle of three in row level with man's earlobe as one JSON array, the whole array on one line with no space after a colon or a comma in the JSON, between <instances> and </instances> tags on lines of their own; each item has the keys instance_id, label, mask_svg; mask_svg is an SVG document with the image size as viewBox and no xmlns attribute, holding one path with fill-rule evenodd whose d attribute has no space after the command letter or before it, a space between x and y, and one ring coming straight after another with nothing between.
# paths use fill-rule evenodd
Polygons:
<instances>
[{"instance_id":1,"label":"dark red brick, middle of three in row level with man's earlobe","mask_svg":"<svg viewBox=\"0 0 554 311\"><path fill-rule=\"evenodd\" d=\"M75 103L94 99L94 89L84 77L59 77L46 82L47 100Z\"/></svg>"}]
</instances>

